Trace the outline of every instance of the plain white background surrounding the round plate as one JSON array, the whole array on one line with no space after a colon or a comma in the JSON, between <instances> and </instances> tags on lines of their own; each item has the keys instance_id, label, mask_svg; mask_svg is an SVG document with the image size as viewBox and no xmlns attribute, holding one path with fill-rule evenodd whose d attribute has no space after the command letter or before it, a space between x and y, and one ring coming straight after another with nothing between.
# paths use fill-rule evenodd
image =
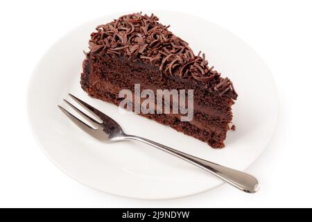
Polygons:
<instances>
[{"instance_id":1,"label":"plain white background surrounding the round plate","mask_svg":"<svg viewBox=\"0 0 312 222\"><path fill-rule=\"evenodd\" d=\"M280 113L272 141L248 169L261 181L259 193L243 194L223 185L175 200L111 196L66 176L35 143L26 92L46 49L91 19L144 9L204 17L245 40L270 67ZM308 0L1 1L0 207L312 207L311 11Z\"/></svg>"}]
</instances>

